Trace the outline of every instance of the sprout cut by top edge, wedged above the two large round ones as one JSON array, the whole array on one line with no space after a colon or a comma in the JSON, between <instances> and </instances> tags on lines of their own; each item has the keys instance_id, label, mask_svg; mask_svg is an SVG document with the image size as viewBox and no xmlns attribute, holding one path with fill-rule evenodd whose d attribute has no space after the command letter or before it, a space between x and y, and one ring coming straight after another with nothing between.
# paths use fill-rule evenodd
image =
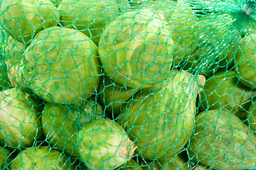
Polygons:
<instances>
[{"instance_id":1,"label":"sprout cut by top edge, wedged above the two large round ones","mask_svg":"<svg viewBox=\"0 0 256 170\"><path fill-rule=\"evenodd\" d=\"M76 28L98 45L108 22L129 8L127 0L63 0L58 6L62 26Z\"/></svg>"}]
</instances>

